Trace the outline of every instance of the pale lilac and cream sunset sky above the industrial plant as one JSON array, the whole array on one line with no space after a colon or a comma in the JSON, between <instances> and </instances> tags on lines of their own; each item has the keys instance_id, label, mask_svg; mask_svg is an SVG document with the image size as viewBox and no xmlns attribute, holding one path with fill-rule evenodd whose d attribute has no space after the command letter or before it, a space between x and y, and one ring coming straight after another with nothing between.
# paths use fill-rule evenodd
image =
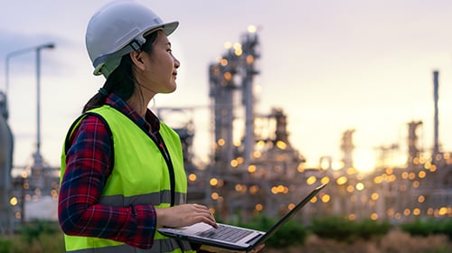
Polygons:
<instances>
[{"instance_id":1,"label":"pale lilac and cream sunset sky above the industrial plant","mask_svg":"<svg viewBox=\"0 0 452 253\"><path fill-rule=\"evenodd\" d=\"M290 144L316 166L342 159L340 141L353 134L355 166L372 168L381 146L407 150L407 123L422 121L419 145L433 146L433 71L439 71L439 141L452 151L452 1L448 0L139 0L164 21L180 22L169 38L181 61L178 88L150 108L193 107L195 155L210 154L208 66L225 42L259 27L261 88L257 113L282 108ZM72 120L103 84L92 75L84 38L89 17L108 1L0 0L0 90L5 59L44 43L41 52L41 151L60 165ZM3 70L3 71L2 71ZM14 165L29 163L36 144L36 60L32 51L9 59L9 126ZM165 121L171 126L179 117ZM175 121L174 121L175 120ZM397 158L397 157L400 157Z\"/></svg>"}]
</instances>

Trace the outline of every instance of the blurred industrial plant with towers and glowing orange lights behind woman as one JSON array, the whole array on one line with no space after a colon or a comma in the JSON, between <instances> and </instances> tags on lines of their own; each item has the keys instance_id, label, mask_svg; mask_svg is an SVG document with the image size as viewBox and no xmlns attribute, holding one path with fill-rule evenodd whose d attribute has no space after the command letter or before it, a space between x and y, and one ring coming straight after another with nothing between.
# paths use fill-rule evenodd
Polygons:
<instances>
[{"instance_id":1,"label":"blurred industrial plant with towers and glowing orange lights behind woman","mask_svg":"<svg viewBox=\"0 0 452 253\"><path fill-rule=\"evenodd\" d=\"M385 159L398 145L381 147L379 163L372 173L359 173L353 164L355 129L344 129L338 144L343 154L341 168L334 168L329 156L320 157L318 166L307 167L304 155L289 141L284 108L256 111L255 78L262 53L259 45L259 33L250 26L240 43L229 44L221 59L208 65L206 96L210 98L212 138L208 164L200 166L193 161L193 121L189 118L185 126L175 127L184 148L189 202L209 206L222 220L246 221L259 213L278 217L315 186L328 183L297 220L309 224L315 217L338 215L349 220L389 220L397 224L421 217L452 217L452 153L441 150L438 136L438 71L433 72L432 79L435 127L431 149L419 145L423 122L407 122L406 163L396 167ZM34 163L23 168L21 176L12 176L14 139L7 124L6 97L0 93L3 232L27 220L28 201L58 198L60 176L59 168L42 163L39 153L33 155ZM165 121L167 111L192 109L161 108L157 114Z\"/></svg>"}]
</instances>

